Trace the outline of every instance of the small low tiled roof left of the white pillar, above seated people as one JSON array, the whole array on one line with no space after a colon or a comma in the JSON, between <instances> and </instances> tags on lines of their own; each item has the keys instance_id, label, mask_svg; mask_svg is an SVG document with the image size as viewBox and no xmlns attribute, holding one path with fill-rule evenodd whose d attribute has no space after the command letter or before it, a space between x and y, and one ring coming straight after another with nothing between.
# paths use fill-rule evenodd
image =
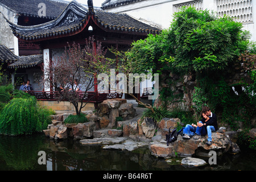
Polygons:
<instances>
[{"instance_id":1,"label":"small low tiled roof left of the white pillar, above seated people","mask_svg":"<svg viewBox=\"0 0 256 182\"><path fill-rule=\"evenodd\" d=\"M18 61L9 65L9 68L29 68L43 63L43 55L19 56Z\"/></svg>"}]
</instances>

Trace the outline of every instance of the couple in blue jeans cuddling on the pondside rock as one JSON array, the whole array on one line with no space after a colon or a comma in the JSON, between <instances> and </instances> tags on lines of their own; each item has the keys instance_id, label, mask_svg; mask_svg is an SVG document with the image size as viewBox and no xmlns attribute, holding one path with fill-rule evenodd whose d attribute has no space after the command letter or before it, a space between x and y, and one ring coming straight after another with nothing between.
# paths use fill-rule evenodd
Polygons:
<instances>
[{"instance_id":1,"label":"couple in blue jeans cuddling on the pondside rock","mask_svg":"<svg viewBox=\"0 0 256 182\"><path fill-rule=\"evenodd\" d=\"M197 122L197 125L192 124L185 127L183 130L183 139L189 139L189 135L192 137L194 134L196 134L193 138L196 140L199 139L201 135L205 135L205 131L207 131L207 144L210 145L212 144L212 131L216 131L218 129L217 116L216 114L212 113L210 108L207 106L203 107L202 116L203 118L201 121Z\"/></svg>"}]
</instances>

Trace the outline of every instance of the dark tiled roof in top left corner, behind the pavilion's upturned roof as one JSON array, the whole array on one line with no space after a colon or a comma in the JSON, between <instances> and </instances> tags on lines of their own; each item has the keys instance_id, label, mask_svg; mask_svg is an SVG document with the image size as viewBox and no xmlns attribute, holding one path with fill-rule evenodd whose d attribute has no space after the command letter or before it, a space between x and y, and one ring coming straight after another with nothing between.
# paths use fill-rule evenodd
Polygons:
<instances>
[{"instance_id":1,"label":"dark tiled roof in top left corner, behind the pavilion's upturned roof","mask_svg":"<svg viewBox=\"0 0 256 182\"><path fill-rule=\"evenodd\" d=\"M46 16L42 18L55 19L67 7L68 3L56 2L52 0L0 0L0 5L5 5L15 11L17 14L24 16L39 17L39 3L46 5Z\"/></svg>"}]
</instances>

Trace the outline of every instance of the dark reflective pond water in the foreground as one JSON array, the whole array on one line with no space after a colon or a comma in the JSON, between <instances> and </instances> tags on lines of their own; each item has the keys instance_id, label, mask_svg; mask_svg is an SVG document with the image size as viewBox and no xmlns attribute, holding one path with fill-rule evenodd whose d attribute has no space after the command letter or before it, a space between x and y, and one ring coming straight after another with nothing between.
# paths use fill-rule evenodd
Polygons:
<instances>
[{"instance_id":1,"label":"dark reflective pond water in the foreground","mask_svg":"<svg viewBox=\"0 0 256 182\"><path fill-rule=\"evenodd\" d=\"M186 170L256 170L254 151L217 158L217 165L186 168L182 158L158 159L147 147L138 150L103 150L102 146L82 146L72 139L57 142L44 134L22 137L0 136L0 171L186 171ZM46 165L39 165L39 151L46 152ZM204 159L204 158L202 158ZM208 159L204 159L208 162Z\"/></svg>"}]
</instances>

